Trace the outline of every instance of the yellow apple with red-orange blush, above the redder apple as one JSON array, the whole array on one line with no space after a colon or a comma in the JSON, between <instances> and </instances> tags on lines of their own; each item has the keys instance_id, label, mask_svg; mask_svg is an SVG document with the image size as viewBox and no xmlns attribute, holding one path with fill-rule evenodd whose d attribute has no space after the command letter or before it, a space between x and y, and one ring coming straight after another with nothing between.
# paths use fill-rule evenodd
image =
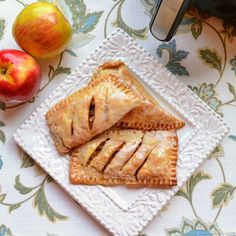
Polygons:
<instances>
[{"instance_id":1,"label":"yellow apple with red-orange blush, above the redder apple","mask_svg":"<svg viewBox=\"0 0 236 236\"><path fill-rule=\"evenodd\" d=\"M55 5L36 2L25 7L16 17L12 33L24 51L45 59L64 51L71 39L72 29Z\"/></svg>"}]
</instances>

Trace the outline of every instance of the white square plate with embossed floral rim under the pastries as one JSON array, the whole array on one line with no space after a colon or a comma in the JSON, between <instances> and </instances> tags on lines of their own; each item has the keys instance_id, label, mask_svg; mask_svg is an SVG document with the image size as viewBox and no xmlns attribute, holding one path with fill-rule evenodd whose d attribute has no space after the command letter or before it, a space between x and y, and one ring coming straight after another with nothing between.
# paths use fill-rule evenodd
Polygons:
<instances>
[{"instance_id":1,"label":"white square plate with embossed floral rim under the pastries","mask_svg":"<svg viewBox=\"0 0 236 236\"><path fill-rule=\"evenodd\" d=\"M85 86L94 70L122 60L162 106L185 121L178 132L178 186L134 189L72 185L69 157L56 151L45 113L59 100ZM14 138L76 201L114 235L137 235L175 195L228 132L224 121L122 30L115 31L20 126ZM125 198L124 198L125 196Z\"/></svg>"}]
</instances>

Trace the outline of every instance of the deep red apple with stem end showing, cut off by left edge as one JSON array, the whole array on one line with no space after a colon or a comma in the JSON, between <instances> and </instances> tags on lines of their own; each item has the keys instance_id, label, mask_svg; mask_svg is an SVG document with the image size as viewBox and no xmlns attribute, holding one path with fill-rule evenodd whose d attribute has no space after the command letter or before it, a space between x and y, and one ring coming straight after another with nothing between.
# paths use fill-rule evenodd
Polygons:
<instances>
[{"instance_id":1,"label":"deep red apple with stem end showing, cut off by left edge","mask_svg":"<svg viewBox=\"0 0 236 236\"><path fill-rule=\"evenodd\" d=\"M0 101L28 101L40 83L41 70L34 58L19 50L0 51Z\"/></svg>"}]
</instances>

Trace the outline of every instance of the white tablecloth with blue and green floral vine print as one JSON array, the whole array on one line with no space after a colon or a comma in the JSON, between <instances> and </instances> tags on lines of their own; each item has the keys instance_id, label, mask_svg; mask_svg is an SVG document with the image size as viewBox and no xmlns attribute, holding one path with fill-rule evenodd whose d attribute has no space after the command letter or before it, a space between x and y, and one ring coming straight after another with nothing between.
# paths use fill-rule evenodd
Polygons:
<instances>
[{"instance_id":1,"label":"white tablecloth with blue and green floral vine print","mask_svg":"<svg viewBox=\"0 0 236 236\"><path fill-rule=\"evenodd\" d=\"M188 85L230 134L143 235L236 235L236 27L191 8L168 43L148 29L155 0L56 0L73 26L57 58L40 61L43 82L28 103L0 103L0 236L109 235L13 141L16 128L115 28ZM0 49L18 48L11 27L28 0L0 0Z\"/></svg>"}]
</instances>

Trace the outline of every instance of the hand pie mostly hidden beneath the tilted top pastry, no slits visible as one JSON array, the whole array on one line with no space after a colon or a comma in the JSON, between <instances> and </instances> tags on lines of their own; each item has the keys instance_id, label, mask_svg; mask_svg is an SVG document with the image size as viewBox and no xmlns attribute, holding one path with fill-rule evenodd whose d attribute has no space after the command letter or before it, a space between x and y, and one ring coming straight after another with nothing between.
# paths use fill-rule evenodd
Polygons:
<instances>
[{"instance_id":1,"label":"hand pie mostly hidden beneath the tilted top pastry, no slits visible","mask_svg":"<svg viewBox=\"0 0 236 236\"><path fill-rule=\"evenodd\" d=\"M121 61L110 61L101 65L94 73L90 84L96 83L108 75L117 76L142 100L138 107L116 124L116 127L141 130L177 130L185 125L183 121L165 111Z\"/></svg>"}]
</instances>

